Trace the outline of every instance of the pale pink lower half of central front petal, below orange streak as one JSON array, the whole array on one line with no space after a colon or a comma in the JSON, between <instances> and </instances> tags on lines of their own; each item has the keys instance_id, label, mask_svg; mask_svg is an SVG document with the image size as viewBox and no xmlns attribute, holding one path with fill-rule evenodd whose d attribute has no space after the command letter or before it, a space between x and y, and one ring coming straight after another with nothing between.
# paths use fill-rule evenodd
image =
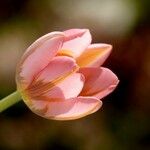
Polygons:
<instances>
[{"instance_id":1,"label":"pale pink lower half of central front petal, below orange streak","mask_svg":"<svg viewBox=\"0 0 150 150\"><path fill-rule=\"evenodd\" d=\"M53 99L77 97L82 91L83 85L84 76L80 73L74 73L57 83L45 94L45 96Z\"/></svg>"}]
</instances>

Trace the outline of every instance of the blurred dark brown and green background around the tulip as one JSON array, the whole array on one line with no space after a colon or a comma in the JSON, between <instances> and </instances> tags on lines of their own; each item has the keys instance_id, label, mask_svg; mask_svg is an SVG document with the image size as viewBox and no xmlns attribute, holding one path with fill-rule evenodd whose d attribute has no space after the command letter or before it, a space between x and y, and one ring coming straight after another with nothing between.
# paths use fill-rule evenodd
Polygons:
<instances>
[{"instance_id":1,"label":"blurred dark brown and green background around the tulip","mask_svg":"<svg viewBox=\"0 0 150 150\"><path fill-rule=\"evenodd\" d=\"M0 98L16 90L15 67L38 37L89 28L110 43L104 64L120 79L97 113L51 121L19 102L0 114L0 150L150 150L149 0L0 0Z\"/></svg>"}]
</instances>

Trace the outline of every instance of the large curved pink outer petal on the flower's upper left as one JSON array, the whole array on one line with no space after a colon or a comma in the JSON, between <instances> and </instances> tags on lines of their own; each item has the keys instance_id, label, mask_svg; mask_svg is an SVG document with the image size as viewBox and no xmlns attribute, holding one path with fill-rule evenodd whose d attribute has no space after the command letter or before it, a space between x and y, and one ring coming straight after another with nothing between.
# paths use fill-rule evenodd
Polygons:
<instances>
[{"instance_id":1,"label":"large curved pink outer petal on the flower's upper left","mask_svg":"<svg viewBox=\"0 0 150 150\"><path fill-rule=\"evenodd\" d=\"M62 32L49 33L35 41L23 55L17 68L17 83L27 87L33 78L48 65L61 48L64 40Z\"/></svg>"}]
</instances>

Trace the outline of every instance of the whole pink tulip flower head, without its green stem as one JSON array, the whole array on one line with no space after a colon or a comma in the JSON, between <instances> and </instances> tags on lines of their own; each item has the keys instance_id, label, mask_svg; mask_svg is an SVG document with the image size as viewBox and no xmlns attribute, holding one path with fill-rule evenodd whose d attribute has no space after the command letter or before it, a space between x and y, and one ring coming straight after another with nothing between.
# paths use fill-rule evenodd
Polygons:
<instances>
[{"instance_id":1,"label":"whole pink tulip flower head, without its green stem","mask_svg":"<svg viewBox=\"0 0 150 150\"><path fill-rule=\"evenodd\" d=\"M88 29L51 32L23 55L16 74L24 102L36 114L72 120L96 112L119 80L100 67L111 52L108 44L91 44Z\"/></svg>"}]
</instances>

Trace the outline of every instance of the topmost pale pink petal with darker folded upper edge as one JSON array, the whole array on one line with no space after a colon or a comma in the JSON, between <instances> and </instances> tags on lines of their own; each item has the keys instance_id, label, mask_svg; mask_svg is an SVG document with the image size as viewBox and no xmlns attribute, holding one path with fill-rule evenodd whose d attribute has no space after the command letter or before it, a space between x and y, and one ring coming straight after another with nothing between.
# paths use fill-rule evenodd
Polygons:
<instances>
[{"instance_id":1,"label":"topmost pale pink petal with darker folded upper edge","mask_svg":"<svg viewBox=\"0 0 150 150\"><path fill-rule=\"evenodd\" d=\"M64 34L66 38L59 55L69 54L74 58L79 57L91 43L91 34L88 29L67 30Z\"/></svg>"}]
</instances>

